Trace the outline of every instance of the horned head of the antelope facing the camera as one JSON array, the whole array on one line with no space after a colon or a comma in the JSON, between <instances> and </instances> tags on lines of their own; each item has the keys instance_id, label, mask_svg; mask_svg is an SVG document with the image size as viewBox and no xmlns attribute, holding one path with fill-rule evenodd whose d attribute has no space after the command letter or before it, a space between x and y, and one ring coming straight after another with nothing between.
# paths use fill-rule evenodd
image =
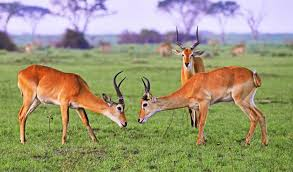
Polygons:
<instances>
[{"instance_id":1,"label":"horned head of the antelope facing the camera","mask_svg":"<svg viewBox=\"0 0 293 172\"><path fill-rule=\"evenodd\" d=\"M176 44L180 48L180 50L173 50L176 55L181 55L183 58L183 67L186 69L191 69L193 67L193 57L200 56L203 51L195 50L195 48L199 45L199 38L198 38L198 27L196 28L196 42L190 47L186 48L179 42L178 36L178 29L176 27Z\"/></svg>"}]
</instances>

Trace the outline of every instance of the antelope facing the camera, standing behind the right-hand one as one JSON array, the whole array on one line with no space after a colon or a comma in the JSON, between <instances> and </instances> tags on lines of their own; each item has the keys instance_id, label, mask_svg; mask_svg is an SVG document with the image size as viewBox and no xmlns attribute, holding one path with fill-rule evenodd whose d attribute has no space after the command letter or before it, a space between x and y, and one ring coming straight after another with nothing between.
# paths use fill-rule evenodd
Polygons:
<instances>
[{"instance_id":1,"label":"antelope facing the camera, standing behind the right-hand one","mask_svg":"<svg viewBox=\"0 0 293 172\"><path fill-rule=\"evenodd\" d=\"M177 55L182 56L182 67L181 67L181 85L184 85L193 75L195 75L198 72L204 72L204 63L200 55L203 53L203 51L195 51L195 47L198 46L199 38L198 38L198 27L196 28L196 42L190 47L185 48L182 46L182 44L179 42L179 36L178 36L178 29L176 27L176 37L177 42L176 44L179 46L181 50L174 50L174 52ZM192 109L189 110L190 120L191 120L191 126L197 127L197 121L199 119L199 112L194 111Z\"/></svg>"}]
</instances>

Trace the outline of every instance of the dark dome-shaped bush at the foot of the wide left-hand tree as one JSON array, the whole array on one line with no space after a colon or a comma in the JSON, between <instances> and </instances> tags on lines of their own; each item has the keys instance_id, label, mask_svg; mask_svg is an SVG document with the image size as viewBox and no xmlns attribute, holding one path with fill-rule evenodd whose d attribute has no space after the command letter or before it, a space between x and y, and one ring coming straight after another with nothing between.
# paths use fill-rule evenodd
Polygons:
<instances>
[{"instance_id":1,"label":"dark dome-shaped bush at the foot of the wide left-hand tree","mask_svg":"<svg viewBox=\"0 0 293 172\"><path fill-rule=\"evenodd\" d=\"M63 48L78 48L90 49L92 48L88 41L85 39L84 34L71 29L67 29L58 47Z\"/></svg>"}]
</instances>

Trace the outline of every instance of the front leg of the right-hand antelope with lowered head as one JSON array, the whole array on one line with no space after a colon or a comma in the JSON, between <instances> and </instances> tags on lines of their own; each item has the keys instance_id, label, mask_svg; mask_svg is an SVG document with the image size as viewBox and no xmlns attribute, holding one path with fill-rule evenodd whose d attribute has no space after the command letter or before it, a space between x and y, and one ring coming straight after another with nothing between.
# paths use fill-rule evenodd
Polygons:
<instances>
[{"instance_id":1,"label":"front leg of the right-hand antelope with lowered head","mask_svg":"<svg viewBox=\"0 0 293 172\"><path fill-rule=\"evenodd\" d=\"M208 114L208 103L206 103L206 102L200 103L199 104L200 118L199 118L199 124L198 124L198 136L197 136L197 141L196 141L197 145L205 143L203 130L204 130L204 126L206 123L207 114Z\"/></svg>"}]
</instances>

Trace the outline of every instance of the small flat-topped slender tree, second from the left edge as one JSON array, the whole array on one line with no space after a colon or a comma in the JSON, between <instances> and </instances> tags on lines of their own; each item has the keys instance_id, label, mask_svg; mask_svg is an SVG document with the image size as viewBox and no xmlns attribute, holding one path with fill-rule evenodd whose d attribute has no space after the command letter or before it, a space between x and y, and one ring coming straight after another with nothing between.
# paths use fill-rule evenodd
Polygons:
<instances>
[{"instance_id":1,"label":"small flat-topped slender tree, second from the left edge","mask_svg":"<svg viewBox=\"0 0 293 172\"><path fill-rule=\"evenodd\" d=\"M35 32L41 19L48 14L51 14L50 10L38 6L23 6L20 11L20 15L30 23L32 28L32 40L34 40Z\"/></svg>"}]
</instances>

